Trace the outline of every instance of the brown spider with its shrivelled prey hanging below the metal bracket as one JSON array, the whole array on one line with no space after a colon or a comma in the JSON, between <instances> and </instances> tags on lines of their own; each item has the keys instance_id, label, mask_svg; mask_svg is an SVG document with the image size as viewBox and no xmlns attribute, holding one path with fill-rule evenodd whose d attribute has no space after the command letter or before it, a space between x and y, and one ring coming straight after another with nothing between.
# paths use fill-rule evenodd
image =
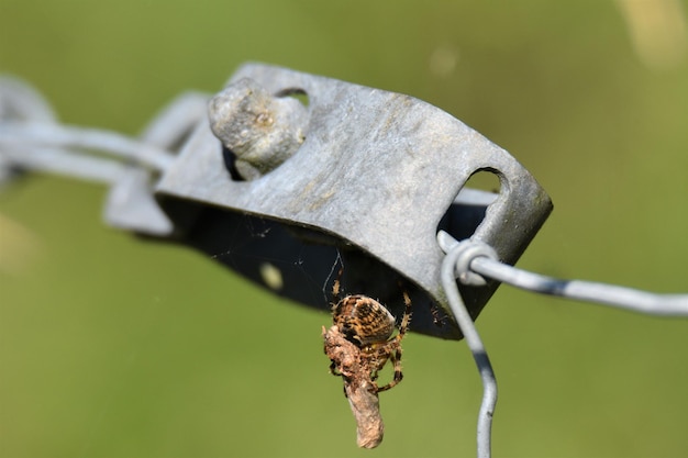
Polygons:
<instances>
[{"instance_id":1,"label":"brown spider with its shrivelled prey hanging below the metal bracket","mask_svg":"<svg viewBox=\"0 0 688 458\"><path fill-rule=\"evenodd\" d=\"M378 393L395 387L403 378L401 339L411 320L411 300L404 292L406 312L399 333L392 337L395 317L382 304L362 294L339 300L339 278L332 293L339 301L332 308L334 325L329 329L322 328L325 355L331 361L330 371L344 381L344 394L356 418L358 447L375 448L382 442L385 433ZM393 365L393 378L384 387L378 387L378 372L388 360Z\"/></svg>"}]
</instances>

